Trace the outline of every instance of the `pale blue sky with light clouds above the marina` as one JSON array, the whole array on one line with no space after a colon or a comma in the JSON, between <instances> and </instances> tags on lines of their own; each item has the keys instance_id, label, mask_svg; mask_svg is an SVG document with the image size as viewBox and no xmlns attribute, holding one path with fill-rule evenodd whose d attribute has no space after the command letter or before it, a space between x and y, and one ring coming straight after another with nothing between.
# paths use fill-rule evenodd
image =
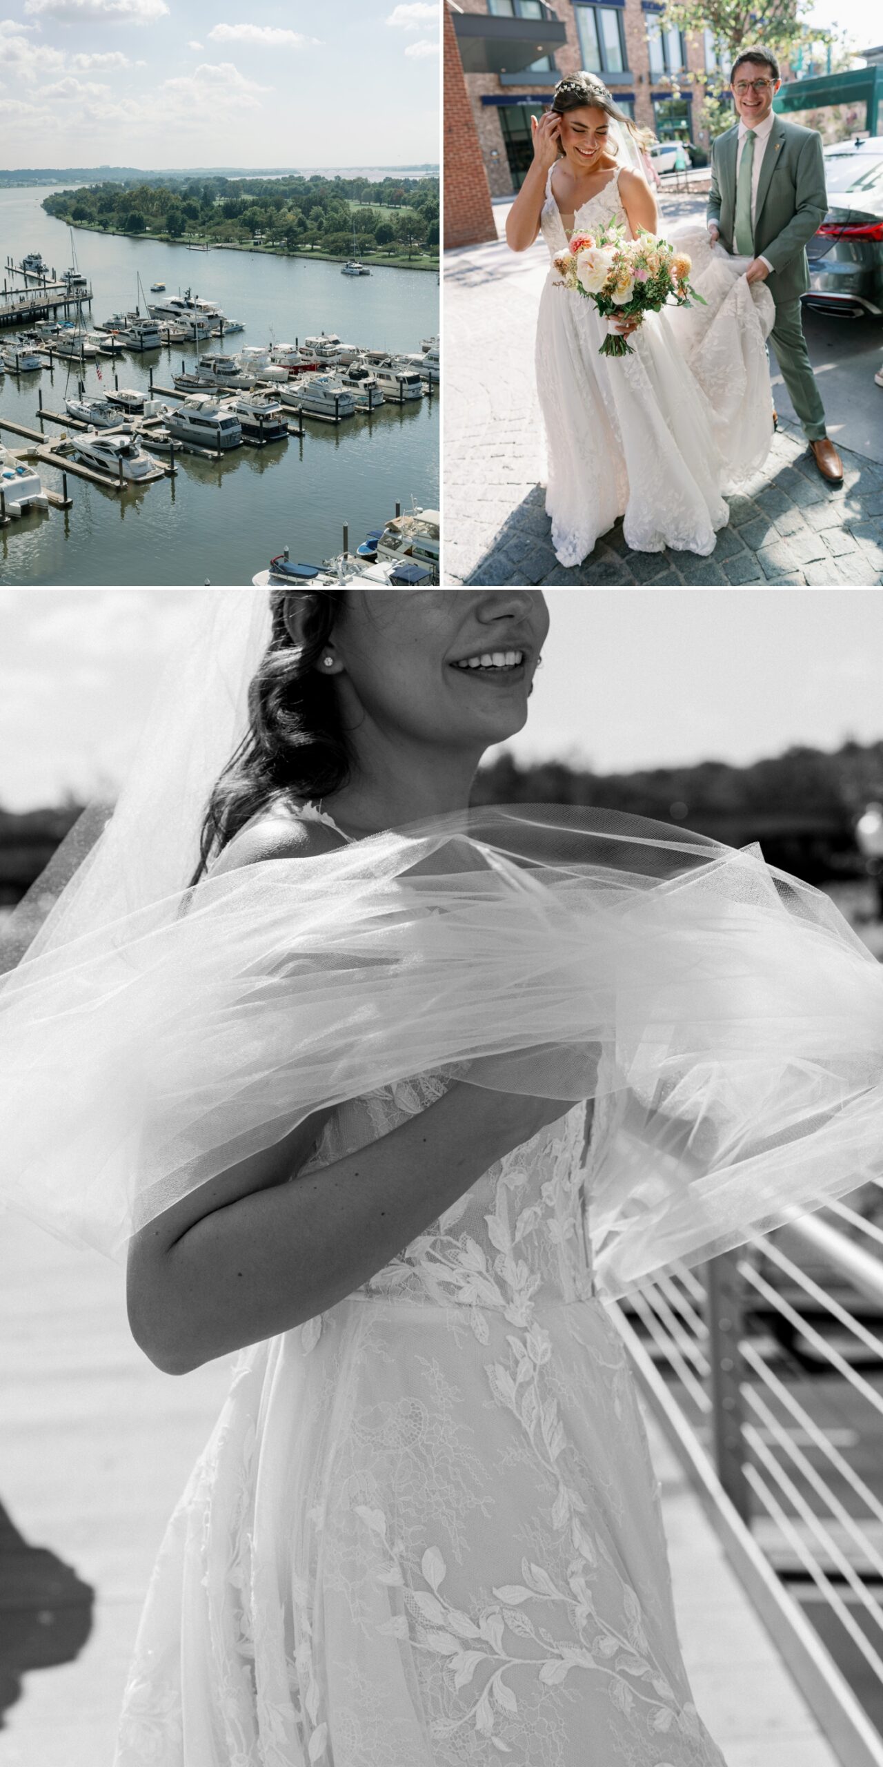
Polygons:
<instances>
[{"instance_id":1,"label":"pale blue sky with light clouds above the marina","mask_svg":"<svg viewBox=\"0 0 883 1767\"><path fill-rule=\"evenodd\" d=\"M0 0L0 168L438 163L438 0Z\"/></svg>"}]
</instances>

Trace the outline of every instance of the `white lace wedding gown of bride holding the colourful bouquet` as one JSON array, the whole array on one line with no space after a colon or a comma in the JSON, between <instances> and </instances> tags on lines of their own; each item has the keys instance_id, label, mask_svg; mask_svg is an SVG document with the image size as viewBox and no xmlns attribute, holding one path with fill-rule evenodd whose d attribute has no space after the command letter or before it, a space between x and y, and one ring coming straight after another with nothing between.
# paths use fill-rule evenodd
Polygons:
<instances>
[{"instance_id":1,"label":"white lace wedding gown of bride holding the colourful bouquet","mask_svg":"<svg viewBox=\"0 0 883 1767\"><path fill-rule=\"evenodd\" d=\"M572 231L629 219L620 175L574 216ZM549 254L565 251L558 203L546 180L540 228ZM565 567L581 564L623 516L638 551L713 551L729 519L724 489L756 472L772 440L765 337L774 302L745 283L747 260L712 249L705 228L666 230L692 258L691 281L708 306L666 307L632 332L634 355L604 357L595 304L560 284L555 265L537 325L537 389L547 438L546 511Z\"/></svg>"}]
</instances>

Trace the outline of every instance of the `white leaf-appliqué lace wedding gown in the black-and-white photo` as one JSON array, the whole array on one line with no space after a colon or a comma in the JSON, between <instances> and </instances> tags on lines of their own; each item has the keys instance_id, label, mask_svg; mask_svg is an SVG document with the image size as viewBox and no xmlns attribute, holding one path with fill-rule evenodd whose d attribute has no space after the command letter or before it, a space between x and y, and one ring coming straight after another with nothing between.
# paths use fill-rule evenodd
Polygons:
<instances>
[{"instance_id":1,"label":"white leaf-appliqu\u00e9 lace wedding gown in the black-and-white photo","mask_svg":"<svg viewBox=\"0 0 883 1767\"><path fill-rule=\"evenodd\" d=\"M311 1168L442 1090L341 1106ZM585 1122L240 1355L159 1555L117 1767L724 1767L593 1297Z\"/></svg>"}]
</instances>

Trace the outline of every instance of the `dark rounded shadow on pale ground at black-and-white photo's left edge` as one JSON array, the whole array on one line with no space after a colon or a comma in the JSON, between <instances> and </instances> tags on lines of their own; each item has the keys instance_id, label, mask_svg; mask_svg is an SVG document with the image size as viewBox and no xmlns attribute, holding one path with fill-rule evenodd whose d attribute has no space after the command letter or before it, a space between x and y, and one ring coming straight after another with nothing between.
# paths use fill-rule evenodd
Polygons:
<instances>
[{"instance_id":1,"label":"dark rounded shadow on pale ground at black-and-white photo's left edge","mask_svg":"<svg viewBox=\"0 0 883 1767\"><path fill-rule=\"evenodd\" d=\"M0 1730L28 1670L79 1654L92 1604L90 1585L46 1546L28 1546L0 1504Z\"/></svg>"}]
</instances>

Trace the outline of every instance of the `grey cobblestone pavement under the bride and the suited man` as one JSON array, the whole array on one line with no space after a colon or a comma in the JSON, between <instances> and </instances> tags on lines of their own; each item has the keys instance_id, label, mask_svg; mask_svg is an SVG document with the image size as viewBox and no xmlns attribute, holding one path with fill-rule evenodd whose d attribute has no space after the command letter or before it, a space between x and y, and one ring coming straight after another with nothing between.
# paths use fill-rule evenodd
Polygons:
<instances>
[{"instance_id":1,"label":"grey cobblestone pavement under the bride and the suited man","mask_svg":"<svg viewBox=\"0 0 883 1767\"><path fill-rule=\"evenodd\" d=\"M883 466L839 442L828 486L802 431L781 422L770 456L729 498L708 558L632 551L622 521L577 569L555 558L546 516L533 330L546 246L505 242L445 254L445 583L809 585L883 581Z\"/></svg>"}]
</instances>

